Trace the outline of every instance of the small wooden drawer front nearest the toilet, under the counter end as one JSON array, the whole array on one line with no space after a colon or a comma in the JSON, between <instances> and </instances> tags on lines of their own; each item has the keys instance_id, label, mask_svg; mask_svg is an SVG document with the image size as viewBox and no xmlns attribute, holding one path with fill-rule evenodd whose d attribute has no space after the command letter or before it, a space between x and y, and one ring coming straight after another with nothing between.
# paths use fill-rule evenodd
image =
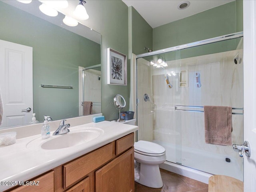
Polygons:
<instances>
[{"instance_id":1,"label":"small wooden drawer front nearest the toilet, under the counter end","mask_svg":"<svg viewBox=\"0 0 256 192\"><path fill-rule=\"evenodd\" d=\"M134 145L134 133L116 140L116 155L121 154Z\"/></svg>"}]
</instances>

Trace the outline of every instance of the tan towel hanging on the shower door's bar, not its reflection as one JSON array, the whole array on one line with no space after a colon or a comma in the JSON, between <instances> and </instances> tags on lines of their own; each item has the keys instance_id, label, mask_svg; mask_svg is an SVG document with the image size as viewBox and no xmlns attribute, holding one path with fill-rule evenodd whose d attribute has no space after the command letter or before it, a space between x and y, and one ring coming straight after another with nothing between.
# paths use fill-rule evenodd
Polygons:
<instances>
[{"instance_id":1,"label":"tan towel hanging on the shower door's bar, not its reflection","mask_svg":"<svg viewBox=\"0 0 256 192\"><path fill-rule=\"evenodd\" d=\"M205 142L232 145L232 107L204 106Z\"/></svg>"}]
</instances>

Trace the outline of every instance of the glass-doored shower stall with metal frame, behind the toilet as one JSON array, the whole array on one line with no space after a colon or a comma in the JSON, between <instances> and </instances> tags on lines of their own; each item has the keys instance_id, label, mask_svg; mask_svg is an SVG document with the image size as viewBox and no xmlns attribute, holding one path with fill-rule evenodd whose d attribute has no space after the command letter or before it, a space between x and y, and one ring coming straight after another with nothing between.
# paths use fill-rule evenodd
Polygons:
<instances>
[{"instance_id":1,"label":"glass-doored shower stall with metal frame, behind the toilet","mask_svg":"<svg viewBox=\"0 0 256 192\"><path fill-rule=\"evenodd\" d=\"M243 33L137 55L137 140L166 149L162 168L208 182L243 181L232 146L206 144L204 106L232 106L232 144L243 143Z\"/></svg>"}]
</instances>

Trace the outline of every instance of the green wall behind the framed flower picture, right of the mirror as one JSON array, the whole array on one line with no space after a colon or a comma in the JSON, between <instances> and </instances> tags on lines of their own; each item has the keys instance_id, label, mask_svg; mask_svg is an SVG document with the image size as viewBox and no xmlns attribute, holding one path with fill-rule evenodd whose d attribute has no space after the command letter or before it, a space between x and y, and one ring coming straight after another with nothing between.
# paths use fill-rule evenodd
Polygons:
<instances>
[{"instance_id":1,"label":"green wall behind the framed flower picture, right of the mirror","mask_svg":"<svg viewBox=\"0 0 256 192\"><path fill-rule=\"evenodd\" d=\"M128 7L121 0L89 0L86 1L89 19L86 26L102 35L102 113L106 120L118 118L118 110L114 106L114 96L121 94L129 109L129 87L107 84L107 48L112 48L128 55ZM127 82L130 84L130 64L127 62Z\"/></svg>"}]
</instances>

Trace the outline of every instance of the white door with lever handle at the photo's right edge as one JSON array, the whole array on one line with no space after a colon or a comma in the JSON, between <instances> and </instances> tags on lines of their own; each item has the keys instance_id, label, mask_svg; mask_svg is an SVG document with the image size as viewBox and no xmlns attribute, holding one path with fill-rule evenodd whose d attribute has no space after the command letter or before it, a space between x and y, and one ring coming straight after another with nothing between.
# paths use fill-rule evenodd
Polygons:
<instances>
[{"instance_id":1,"label":"white door with lever handle at the photo's right edge","mask_svg":"<svg viewBox=\"0 0 256 192\"><path fill-rule=\"evenodd\" d=\"M244 0L244 192L256 192L256 1ZM242 91L242 90L241 90Z\"/></svg>"}]
</instances>

